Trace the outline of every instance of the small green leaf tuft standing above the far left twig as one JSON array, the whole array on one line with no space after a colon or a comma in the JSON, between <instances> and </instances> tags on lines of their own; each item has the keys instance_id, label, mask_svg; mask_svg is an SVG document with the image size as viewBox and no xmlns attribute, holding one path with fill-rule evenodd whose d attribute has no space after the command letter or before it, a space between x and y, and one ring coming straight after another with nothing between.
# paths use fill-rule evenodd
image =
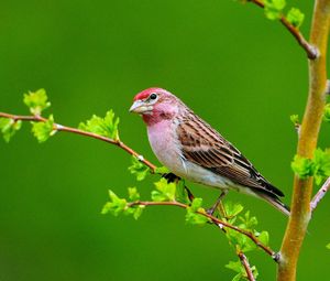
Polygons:
<instances>
[{"instance_id":1,"label":"small green leaf tuft standing above the far left twig","mask_svg":"<svg viewBox=\"0 0 330 281\"><path fill-rule=\"evenodd\" d=\"M42 111L51 106L47 101L47 95L45 89L38 89L36 91L29 91L24 94L24 104L30 108L30 111L34 116L40 116Z\"/></svg>"}]
</instances>

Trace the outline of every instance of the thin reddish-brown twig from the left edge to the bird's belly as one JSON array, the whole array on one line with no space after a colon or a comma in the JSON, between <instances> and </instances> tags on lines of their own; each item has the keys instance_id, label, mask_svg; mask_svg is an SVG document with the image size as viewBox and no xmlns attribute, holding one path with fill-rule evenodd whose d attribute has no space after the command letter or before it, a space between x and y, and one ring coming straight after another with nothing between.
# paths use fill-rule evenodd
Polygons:
<instances>
[{"instance_id":1,"label":"thin reddish-brown twig from the left edge to the bird's belly","mask_svg":"<svg viewBox=\"0 0 330 281\"><path fill-rule=\"evenodd\" d=\"M9 118L14 121L22 120L22 121L46 122L48 120L41 116L20 116L20 115L4 114L4 112L0 112L0 117ZM130 147L128 147L125 143L123 143L120 140L112 140L112 139L109 139L109 138L106 138L106 137L102 137L102 136L99 136L99 134L96 134L92 132L87 132L87 131L82 131L82 130L79 130L76 128L62 126L59 123L54 123L54 130L81 134L85 137L94 138L94 139L101 140L101 141L111 143L113 145L117 145L117 147L121 148L122 150L124 150L125 152L128 152L129 154L138 158L143 164L145 164L146 166L148 166L151 169L152 173L155 172L156 166L153 163L151 163L150 161L144 159L140 153L138 153L136 151L134 151L133 149L131 149Z\"/></svg>"}]
</instances>

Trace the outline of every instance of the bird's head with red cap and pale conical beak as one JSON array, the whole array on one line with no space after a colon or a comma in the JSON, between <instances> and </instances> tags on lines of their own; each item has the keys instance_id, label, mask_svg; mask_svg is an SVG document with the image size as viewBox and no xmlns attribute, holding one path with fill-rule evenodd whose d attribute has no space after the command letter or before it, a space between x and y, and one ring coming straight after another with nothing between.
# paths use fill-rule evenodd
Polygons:
<instances>
[{"instance_id":1,"label":"bird's head with red cap and pale conical beak","mask_svg":"<svg viewBox=\"0 0 330 281\"><path fill-rule=\"evenodd\" d=\"M130 112L139 114L147 125L172 119L178 111L179 100L162 88L148 88L139 93Z\"/></svg>"}]
</instances>

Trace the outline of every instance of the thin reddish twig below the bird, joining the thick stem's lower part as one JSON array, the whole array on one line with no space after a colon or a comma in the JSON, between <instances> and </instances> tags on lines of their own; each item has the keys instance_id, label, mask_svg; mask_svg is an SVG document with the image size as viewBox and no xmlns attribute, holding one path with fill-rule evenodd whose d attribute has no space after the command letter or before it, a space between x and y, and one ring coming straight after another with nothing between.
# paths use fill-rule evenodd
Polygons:
<instances>
[{"instance_id":1,"label":"thin reddish twig below the bird, joining the thick stem's lower part","mask_svg":"<svg viewBox=\"0 0 330 281\"><path fill-rule=\"evenodd\" d=\"M180 203L180 202L176 202L176 201L170 201L170 202L136 201L136 202L128 203L128 207L132 207L132 206L136 206L136 205L140 205L140 206L164 206L165 205L165 206L176 206L176 207L180 207L180 208L185 208L185 209L189 207L188 205ZM204 213L204 212L196 212L196 213L209 218L219 228L222 228L224 226L224 227L231 228L231 229L249 237L258 248L264 250L268 256L271 256L277 262L278 255L275 251L273 251L270 247L262 244L254 234L246 231L244 229L241 229L237 226L233 226L233 225L231 225L227 221L223 221L223 220L221 220L212 215L209 215L207 213Z\"/></svg>"}]
</instances>

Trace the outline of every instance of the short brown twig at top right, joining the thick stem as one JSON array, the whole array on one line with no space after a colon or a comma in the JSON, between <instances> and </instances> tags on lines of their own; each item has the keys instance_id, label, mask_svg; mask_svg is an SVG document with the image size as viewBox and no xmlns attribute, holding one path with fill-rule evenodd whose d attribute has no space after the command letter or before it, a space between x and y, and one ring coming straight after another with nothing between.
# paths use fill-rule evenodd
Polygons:
<instances>
[{"instance_id":1,"label":"short brown twig at top right, joining the thick stem","mask_svg":"<svg viewBox=\"0 0 330 281\"><path fill-rule=\"evenodd\" d=\"M262 0L248 0L249 2L252 2L256 4L257 7L264 9L265 4L263 3ZM296 39L298 44L305 50L308 58L310 60L316 60L319 56L319 51L316 46L311 45L300 33L300 31L295 28L293 24L289 23L289 21L282 15L279 18L280 23L292 33L292 35Z\"/></svg>"}]
</instances>

